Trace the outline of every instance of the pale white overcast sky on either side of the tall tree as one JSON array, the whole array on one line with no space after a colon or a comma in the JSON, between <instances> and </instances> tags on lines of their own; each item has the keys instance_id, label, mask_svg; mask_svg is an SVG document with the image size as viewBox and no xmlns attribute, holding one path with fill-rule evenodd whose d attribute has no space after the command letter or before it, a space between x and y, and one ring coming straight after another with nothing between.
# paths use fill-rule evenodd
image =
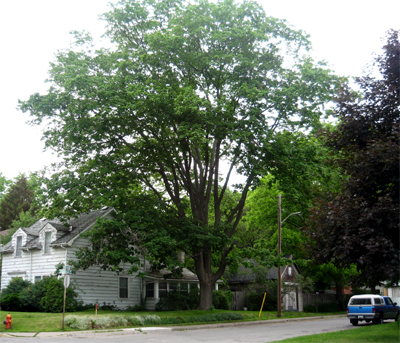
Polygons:
<instances>
[{"instance_id":1,"label":"pale white overcast sky on either side of the tall tree","mask_svg":"<svg viewBox=\"0 0 400 343\"><path fill-rule=\"evenodd\" d=\"M98 15L109 0L3 0L0 2L0 173L15 178L50 165L41 128L26 124L18 99L45 93L49 62L67 48L71 30L104 32ZM286 19L311 36L313 52L338 75L359 76L381 38L400 29L400 0L262 0L267 15ZM98 41L99 42L99 41ZM101 46L101 43L98 44Z\"/></svg>"}]
</instances>

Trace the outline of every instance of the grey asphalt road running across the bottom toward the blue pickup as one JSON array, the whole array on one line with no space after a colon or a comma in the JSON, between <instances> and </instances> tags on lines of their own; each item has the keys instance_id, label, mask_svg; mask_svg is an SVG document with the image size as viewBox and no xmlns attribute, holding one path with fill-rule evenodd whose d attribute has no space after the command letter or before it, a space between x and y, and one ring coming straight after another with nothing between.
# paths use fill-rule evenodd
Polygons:
<instances>
[{"instance_id":1,"label":"grey asphalt road running across the bottom toward the blue pickup","mask_svg":"<svg viewBox=\"0 0 400 343\"><path fill-rule=\"evenodd\" d=\"M265 343L312 335L324 332L357 329L350 325L346 317L262 323L226 327L182 327L182 328L143 328L141 330L124 330L111 332L72 332L72 333L40 333L35 337L32 334L25 337L22 334L12 334L12 337L3 335L1 343L31 343L31 342L68 342L68 343Z\"/></svg>"}]
</instances>

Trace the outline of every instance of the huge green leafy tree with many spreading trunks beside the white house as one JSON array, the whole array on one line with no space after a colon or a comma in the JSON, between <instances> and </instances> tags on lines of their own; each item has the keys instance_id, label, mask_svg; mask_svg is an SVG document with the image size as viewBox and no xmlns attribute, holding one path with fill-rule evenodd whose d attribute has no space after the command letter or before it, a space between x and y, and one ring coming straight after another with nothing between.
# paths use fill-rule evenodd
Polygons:
<instances>
[{"instance_id":1,"label":"huge green leafy tree with many spreading trunks beside the white house","mask_svg":"<svg viewBox=\"0 0 400 343\"><path fill-rule=\"evenodd\" d=\"M164 246L192 257L209 308L275 133L318 126L338 78L306 55L302 31L256 2L123 0L103 19L114 48L93 51L88 39L85 51L78 35L51 64L48 93L20 103L65 158L53 209L108 204L136 220L135 194L157 200L143 212L144 243L160 258ZM222 211L234 172L245 181Z\"/></svg>"}]
</instances>

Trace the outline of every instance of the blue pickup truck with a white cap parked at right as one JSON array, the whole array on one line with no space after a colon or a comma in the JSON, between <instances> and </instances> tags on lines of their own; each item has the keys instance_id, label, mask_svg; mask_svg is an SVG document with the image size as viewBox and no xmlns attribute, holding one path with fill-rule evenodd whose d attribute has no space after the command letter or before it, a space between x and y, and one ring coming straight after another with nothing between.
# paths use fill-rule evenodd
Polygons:
<instances>
[{"instance_id":1,"label":"blue pickup truck with a white cap parked at right","mask_svg":"<svg viewBox=\"0 0 400 343\"><path fill-rule=\"evenodd\" d=\"M389 297L374 294L354 295L347 304L347 318L350 323L359 322L381 324L385 319L399 319L400 307Z\"/></svg>"}]
</instances>

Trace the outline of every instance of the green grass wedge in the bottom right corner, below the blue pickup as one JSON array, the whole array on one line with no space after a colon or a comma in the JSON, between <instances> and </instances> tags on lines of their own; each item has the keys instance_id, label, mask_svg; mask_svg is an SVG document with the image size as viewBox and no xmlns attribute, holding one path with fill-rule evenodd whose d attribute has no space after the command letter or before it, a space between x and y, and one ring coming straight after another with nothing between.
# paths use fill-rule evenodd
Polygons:
<instances>
[{"instance_id":1,"label":"green grass wedge in the bottom right corner, below the blue pickup","mask_svg":"<svg viewBox=\"0 0 400 343\"><path fill-rule=\"evenodd\" d=\"M398 343L400 342L399 322L382 325L365 325L351 330L301 336L274 341L279 343Z\"/></svg>"}]
</instances>

